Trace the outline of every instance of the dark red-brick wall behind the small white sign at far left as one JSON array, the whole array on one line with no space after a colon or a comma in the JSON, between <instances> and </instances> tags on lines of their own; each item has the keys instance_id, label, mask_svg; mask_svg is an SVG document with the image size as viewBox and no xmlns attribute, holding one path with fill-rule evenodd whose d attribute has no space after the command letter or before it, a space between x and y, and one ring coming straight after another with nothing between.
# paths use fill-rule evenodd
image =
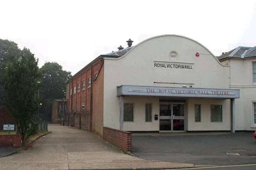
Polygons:
<instances>
[{"instance_id":1,"label":"dark red-brick wall behind the small white sign at far left","mask_svg":"<svg viewBox=\"0 0 256 170\"><path fill-rule=\"evenodd\" d=\"M3 131L5 124L15 125L16 121L6 107L0 106L0 131Z\"/></svg>"}]
</instances>

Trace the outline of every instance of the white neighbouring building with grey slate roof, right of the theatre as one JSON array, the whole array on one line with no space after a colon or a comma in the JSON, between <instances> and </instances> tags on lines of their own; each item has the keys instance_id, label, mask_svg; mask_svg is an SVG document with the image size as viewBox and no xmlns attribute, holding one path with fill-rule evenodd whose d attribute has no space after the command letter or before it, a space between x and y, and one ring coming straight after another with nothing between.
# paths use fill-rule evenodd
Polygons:
<instances>
[{"instance_id":1,"label":"white neighbouring building with grey slate roof, right of the theatre","mask_svg":"<svg viewBox=\"0 0 256 170\"><path fill-rule=\"evenodd\" d=\"M236 130L256 130L256 46L237 47L217 57L229 66L230 89L239 89L236 99Z\"/></svg>"}]
</instances>

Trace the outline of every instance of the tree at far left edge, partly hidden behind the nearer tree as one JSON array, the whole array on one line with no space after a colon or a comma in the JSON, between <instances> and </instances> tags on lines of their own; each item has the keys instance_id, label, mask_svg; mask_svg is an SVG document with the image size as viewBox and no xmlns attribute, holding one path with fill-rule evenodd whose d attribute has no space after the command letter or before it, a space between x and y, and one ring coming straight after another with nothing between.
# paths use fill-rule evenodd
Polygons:
<instances>
[{"instance_id":1,"label":"tree at far left edge, partly hidden behind the nearer tree","mask_svg":"<svg viewBox=\"0 0 256 170\"><path fill-rule=\"evenodd\" d=\"M16 59L21 57L21 50L18 45L9 40L0 39L0 106L4 104L4 88L3 88L3 72L7 63L11 61L11 57Z\"/></svg>"}]
</instances>

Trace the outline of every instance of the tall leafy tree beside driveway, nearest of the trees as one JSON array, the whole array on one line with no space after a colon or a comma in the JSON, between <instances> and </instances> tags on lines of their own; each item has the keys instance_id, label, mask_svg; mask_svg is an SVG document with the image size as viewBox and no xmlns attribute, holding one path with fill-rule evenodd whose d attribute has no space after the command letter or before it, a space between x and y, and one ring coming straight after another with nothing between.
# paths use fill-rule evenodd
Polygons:
<instances>
[{"instance_id":1,"label":"tall leafy tree beside driveway, nearest of the trees","mask_svg":"<svg viewBox=\"0 0 256 170\"><path fill-rule=\"evenodd\" d=\"M2 85L5 90L5 105L16 118L22 140L29 136L30 125L37 115L38 81L41 77L38 59L30 50L20 50L20 56L8 55L8 62L2 68Z\"/></svg>"}]
</instances>

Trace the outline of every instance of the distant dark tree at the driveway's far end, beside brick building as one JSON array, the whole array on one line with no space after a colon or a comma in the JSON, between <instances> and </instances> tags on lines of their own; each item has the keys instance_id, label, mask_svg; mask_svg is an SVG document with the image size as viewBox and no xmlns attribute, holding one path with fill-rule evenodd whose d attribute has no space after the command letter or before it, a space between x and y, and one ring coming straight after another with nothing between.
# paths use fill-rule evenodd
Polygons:
<instances>
[{"instance_id":1,"label":"distant dark tree at the driveway's far end, beside brick building","mask_svg":"<svg viewBox=\"0 0 256 170\"><path fill-rule=\"evenodd\" d=\"M40 101L42 107L40 114L48 121L52 118L52 102L54 99L65 98L66 82L71 78L71 73L62 69L56 62L47 62L42 68ZM42 117L43 115L41 115Z\"/></svg>"}]
</instances>

